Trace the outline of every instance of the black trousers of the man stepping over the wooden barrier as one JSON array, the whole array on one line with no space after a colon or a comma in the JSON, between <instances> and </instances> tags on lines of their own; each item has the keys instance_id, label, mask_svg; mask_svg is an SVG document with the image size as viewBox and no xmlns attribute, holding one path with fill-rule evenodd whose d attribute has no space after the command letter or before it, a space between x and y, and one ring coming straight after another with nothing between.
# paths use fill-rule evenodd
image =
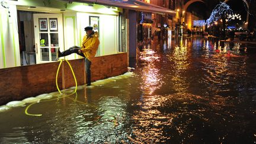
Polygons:
<instances>
[{"instance_id":1,"label":"black trousers of the man stepping over the wooden barrier","mask_svg":"<svg viewBox=\"0 0 256 144\"><path fill-rule=\"evenodd\" d=\"M68 56L68 55L71 55L72 53L76 53L77 55L84 57L85 69L87 73L87 84L91 85L91 61L88 60L87 57L85 57L84 53L79 53L79 49L81 49L81 47L73 46L68 50L65 50L64 52L60 52L59 57Z\"/></svg>"}]
</instances>

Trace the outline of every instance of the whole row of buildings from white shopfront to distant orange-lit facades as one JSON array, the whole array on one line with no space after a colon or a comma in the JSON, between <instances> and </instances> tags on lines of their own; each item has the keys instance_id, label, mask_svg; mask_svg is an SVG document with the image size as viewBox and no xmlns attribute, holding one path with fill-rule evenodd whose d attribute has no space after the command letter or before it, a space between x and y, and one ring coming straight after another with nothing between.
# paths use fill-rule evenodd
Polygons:
<instances>
[{"instance_id":1,"label":"whole row of buildings from white shopfront to distant orange-lit facades","mask_svg":"<svg viewBox=\"0 0 256 144\"><path fill-rule=\"evenodd\" d=\"M57 48L81 45L87 25L100 35L97 56L124 52L134 60L137 41L162 39L168 31L183 33L185 27L193 28L194 19L200 19L185 10L191 1L184 0L0 2L0 68L53 62Z\"/></svg>"}]
</instances>

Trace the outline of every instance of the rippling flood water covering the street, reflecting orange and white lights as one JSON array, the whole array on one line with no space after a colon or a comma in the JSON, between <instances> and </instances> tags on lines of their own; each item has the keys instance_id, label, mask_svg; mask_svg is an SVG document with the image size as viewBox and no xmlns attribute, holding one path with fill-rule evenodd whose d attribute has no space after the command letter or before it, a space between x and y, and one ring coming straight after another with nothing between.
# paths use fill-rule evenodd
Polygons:
<instances>
[{"instance_id":1,"label":"rippling flood water covering the street, reflecting orange and white lights","mask_svg":"<svg viewBox=\"0 0 256 144\"><path fill-rule=\"evenodd\" d=\"M256 142L253 46L194 38L140 48L135 72L31 105L40 117L24 113L28 104L0 112L0 142Z\"/></svg>"}]
</instances>

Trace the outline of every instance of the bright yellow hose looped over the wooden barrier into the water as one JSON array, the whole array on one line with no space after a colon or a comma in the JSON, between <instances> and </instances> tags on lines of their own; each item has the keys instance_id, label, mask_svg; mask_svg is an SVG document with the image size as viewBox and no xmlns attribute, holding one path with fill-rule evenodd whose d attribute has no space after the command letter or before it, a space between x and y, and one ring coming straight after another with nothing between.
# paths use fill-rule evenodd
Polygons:
<instances>
[{"instance_id":1,"label":"bright yellow hose looped over the wooden barrier into the water","mask_svg":"<svg viewBox=\"0 0 256 144\"><path fill-rule=\"evenodd\" d=\"M66 61L66 62L68 63L68 65L69 65L69 68L71 68L71 72L72 72L72 74L73 74L73 78L75 79L76 87L75 87L75 91L74 91L72 94L65 95L65 96L59 97L59 98L69 97L69 96L75 94L75 93L76 93L76 90L77 90L77 81L76 81L75 73L73 72L73 68L72 68L71 64L70 64L70 63L68 62L68 60L66 60L66 59L61 59L61 60L59 60L60 63L59 63L59 67L58 67L57 73L56 73L56 87L57 87L57 90L59 91L60 94L62 94L62 92L60 91L59 86L58 86L58 84L57 84L57 76L59 75L59 69L60 69L60 66L62 65L62 62L63 62L63 61ZM40 101L40 102L58 100L59 98L54 98L54 99L52 99L52 100L42 100L42 101ZM42 114L30 114L30 113L28 113L28 109L29 109L29 108L31 107L31 105L33 105L33 104L36 104L36 103L31 103L30 105L28 105L28 106L25 108L25 114L27 114L28 116L38 116L38 117L39 117L39 116L42 116Z\"/></svg>"}]
</instances>

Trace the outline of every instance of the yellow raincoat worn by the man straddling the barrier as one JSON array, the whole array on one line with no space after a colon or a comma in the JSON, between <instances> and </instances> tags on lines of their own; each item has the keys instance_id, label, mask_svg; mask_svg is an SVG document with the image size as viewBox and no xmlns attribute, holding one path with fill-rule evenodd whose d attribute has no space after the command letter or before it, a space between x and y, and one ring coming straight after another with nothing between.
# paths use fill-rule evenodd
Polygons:
<instances>
[{"instance_id":1,"label":"yellow raincoat worn by the man straddling the barrier","mask_svg":"<svg viewBox=\"0 0 256 144\"><path fill-rule=\"evenodd\" d=\"M95 57L99 44L100 44L100 40L98 39L97 32L95 32L91 36L87 36L87 35L84 36L81 50L88 60L91 61L92 58Z\"/></svg>"}]
</instances>

